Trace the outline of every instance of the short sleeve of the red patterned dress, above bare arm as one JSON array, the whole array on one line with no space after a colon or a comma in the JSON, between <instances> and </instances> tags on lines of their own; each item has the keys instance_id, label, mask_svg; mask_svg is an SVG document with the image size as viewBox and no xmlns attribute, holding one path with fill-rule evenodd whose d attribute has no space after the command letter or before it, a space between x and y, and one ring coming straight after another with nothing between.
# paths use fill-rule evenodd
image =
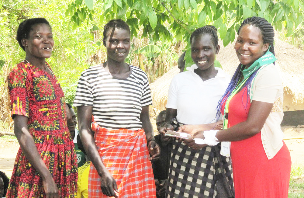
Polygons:
<instances>
[{"instance_id":1,"label":"short sleeve of the red patterned dress, above bare arm","mask_svg":"<svg viewBox=\"0 0 304 198\"><path fill-rule=\"evenodd\" d=\"M15 67L8 77L9 97L11 103L12 118L14 115L29 117L29 94L30 83L28 72L25 68Z\"/></svg>"}]
</instances>

